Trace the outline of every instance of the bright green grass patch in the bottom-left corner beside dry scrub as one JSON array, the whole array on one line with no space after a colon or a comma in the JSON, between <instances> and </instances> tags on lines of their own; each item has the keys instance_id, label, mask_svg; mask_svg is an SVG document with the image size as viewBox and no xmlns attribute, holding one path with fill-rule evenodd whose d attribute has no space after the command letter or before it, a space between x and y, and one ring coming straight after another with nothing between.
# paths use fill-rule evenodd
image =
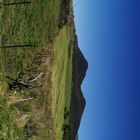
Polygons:
<instances>
[{"instance_id":1,"label":"bright green grass patch in the bottom-left corner beside dry scrub","mask_svg":"<svg viewBox=\"0 0 140 140\"><path fill-rule=\"evenodd\" d=\"M6 104L4 97L0 96L0 139L20 140L23 139L22 129L16 126L12 110Z\"/></svg>"}]
</instances>

